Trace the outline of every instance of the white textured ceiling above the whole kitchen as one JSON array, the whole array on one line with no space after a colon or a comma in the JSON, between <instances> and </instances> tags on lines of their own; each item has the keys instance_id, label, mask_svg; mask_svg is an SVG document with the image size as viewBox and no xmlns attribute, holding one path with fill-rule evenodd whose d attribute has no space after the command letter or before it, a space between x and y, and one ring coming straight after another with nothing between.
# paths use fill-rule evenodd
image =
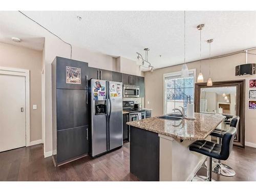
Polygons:
<instances>
[{"instance_id":1,"label":"white textured ceiling above the whole kitchen","mask_svg":"<svg viewBox=\"0 0 256 192\"><path fill-rule=\"evenodd\" d=\"M155 68L177 65L184 56L183 11L24 11L70 44L112 56L136 60L150 48ZM77 16L82 19L78 20ZM186 60L200 59L197 25L202 31L202 58L256 46L256 11L186 11ZM42 49L45 30L19 12L0 12L0 41L11 36L30 39L27 47ZM40 36L41 35L41 36ZM25 42L24 42L25 43ZM162 55L162 57L159 57Z\"/></svg>"}]
</instances>

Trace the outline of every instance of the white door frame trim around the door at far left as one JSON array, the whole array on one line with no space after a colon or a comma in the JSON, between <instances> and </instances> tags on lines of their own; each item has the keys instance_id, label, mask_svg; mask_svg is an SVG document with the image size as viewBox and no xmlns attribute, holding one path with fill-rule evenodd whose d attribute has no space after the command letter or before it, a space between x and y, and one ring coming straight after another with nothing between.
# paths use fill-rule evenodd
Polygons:
<instances>
[{"instance_id":1,"label":"white door frame trim around the door at far left","mask_svg":"<svg viewBox=\"0 0 256 192\"><path fill-rule=\"evenodd\" d=\"M30 145L30 71L27 69L8 68L0 66L0 74L25 77L25 125L26 146Z\"/></svg>"}]
</instances>

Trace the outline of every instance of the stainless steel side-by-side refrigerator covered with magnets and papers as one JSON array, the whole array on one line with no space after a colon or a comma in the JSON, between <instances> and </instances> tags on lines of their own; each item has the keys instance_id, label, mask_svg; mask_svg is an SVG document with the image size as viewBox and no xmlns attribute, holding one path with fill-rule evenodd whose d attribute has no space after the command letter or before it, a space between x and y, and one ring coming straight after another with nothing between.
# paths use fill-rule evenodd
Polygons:
<instances>
[{"instance_id":1,"label":"stainless steel side-by-side refrigerator covered with magnets and papers","mask_svg":"<svg viewBox=\"0 0 256 192\"><path fill-rule=\"evenodd\" d=\"M94 157L123 144L122 83L91 79L90 98Z\"/></svg>"}]
</instances>

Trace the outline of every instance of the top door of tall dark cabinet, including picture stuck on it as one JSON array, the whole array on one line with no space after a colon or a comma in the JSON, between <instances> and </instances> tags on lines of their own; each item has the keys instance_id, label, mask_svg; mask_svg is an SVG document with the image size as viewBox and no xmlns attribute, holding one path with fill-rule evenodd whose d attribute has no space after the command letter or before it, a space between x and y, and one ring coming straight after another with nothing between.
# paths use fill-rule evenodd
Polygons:
<instances>
[{"instance_id":1,"label":"top door of tall dark cabinet, including picture stuck on it","mask_svg":"<svg viewBox=\"0 0 256 192\"><path fill-rule=\"evenodd\" d=\"M53 71L57 71L57 89L89 89L87 62L56 57L52 63L52 68Z\"/></svg>"}]
</instances>

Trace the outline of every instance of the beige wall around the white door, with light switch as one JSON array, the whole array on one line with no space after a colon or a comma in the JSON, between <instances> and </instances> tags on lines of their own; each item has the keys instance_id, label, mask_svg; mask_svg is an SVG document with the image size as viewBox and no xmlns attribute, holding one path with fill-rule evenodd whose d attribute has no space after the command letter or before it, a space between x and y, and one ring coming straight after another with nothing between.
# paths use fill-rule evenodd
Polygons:
<instances>
[{"instance_id":1,"label":"beige wall around the white door, with light switch","mask_svg":"<svg viewBox=\"0 0 256 192\"><path fill-rule=\"evenodd\" d=\"M42 51L0 42L0 66L30 70L30 141L40 140ZM32 105L37 105L37 110Z\"/></svg>"}]
</instances>

